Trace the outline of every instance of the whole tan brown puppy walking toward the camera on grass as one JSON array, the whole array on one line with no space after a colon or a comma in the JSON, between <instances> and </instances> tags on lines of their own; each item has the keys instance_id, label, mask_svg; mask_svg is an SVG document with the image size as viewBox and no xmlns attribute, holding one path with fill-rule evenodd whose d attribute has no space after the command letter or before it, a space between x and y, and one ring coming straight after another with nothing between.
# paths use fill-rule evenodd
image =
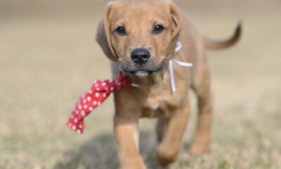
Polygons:
<instances>
[{"instance_id":1,"label":"whole tan brown puppy walking toward the camera on grass","mask_svg":"<svg viewBox=\"0 0 281 169\"><path fill-rule=\"evenodd\" d=\"M113 76L119 68L140 87L115 92L115 138L121 168L145 168L138 153L138 120L159 118L157 159L161 165L173 162L181 148L188 124L191 87L198 96L198 122L192 154L209 151L211 142L211 92L205 48L232 46L240 37L224 42L203 39L171 1L119 0L107 6L96 39L112 60ZM176 43L183 49L175 52ZM192 68L174 65L176 92L171 91L168 63L172 58L193 63Z\"/></svg>"}]
</instances>

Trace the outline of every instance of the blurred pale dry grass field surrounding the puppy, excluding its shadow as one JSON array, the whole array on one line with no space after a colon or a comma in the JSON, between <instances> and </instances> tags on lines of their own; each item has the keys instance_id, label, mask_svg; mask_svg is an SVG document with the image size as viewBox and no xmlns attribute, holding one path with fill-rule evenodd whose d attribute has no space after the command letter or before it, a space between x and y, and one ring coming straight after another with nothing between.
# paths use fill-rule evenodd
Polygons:
<instances>
[{"instance_id":1,"label":"blurred pale dry grass field surrounding the puppy, excluding its shadow","mask_svg":"<svg viewBox=\"0 0 281 169\"><path fill-rule=\"evenodd\" d=\"M209 51L214 93L210 154L188 154L196 101L176 168L281 168L281 1L175 0L202 34L243 37ZM0 1L0 168L119 168L112 99L86 118L85 134L65 125L93 80L110 78L95 42L107 1ZM194 96L192 96L194 97ZM141 121L141 154L155 163L155 120Z\"/></svg>"}]
</instances>

